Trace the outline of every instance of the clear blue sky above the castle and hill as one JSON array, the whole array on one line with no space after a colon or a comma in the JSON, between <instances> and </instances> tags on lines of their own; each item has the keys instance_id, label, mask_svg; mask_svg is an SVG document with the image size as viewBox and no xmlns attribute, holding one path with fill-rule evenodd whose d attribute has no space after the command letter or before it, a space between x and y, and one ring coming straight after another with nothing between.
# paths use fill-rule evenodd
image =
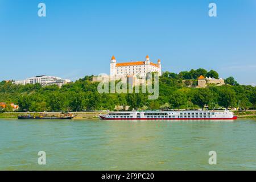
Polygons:
<instances>
[{"instance_id":1,"label":"clear blue sky above the castle and hill","mask_svg":"<svg viewBox=\"0 0 256 182\"><path fill-rule=\"evenodd\" d=\"M210 2L217 17L208 16ZM256 84L256 1L0 0L0 80L109 73L112 55Z\"/></svg>"}]
</instances>

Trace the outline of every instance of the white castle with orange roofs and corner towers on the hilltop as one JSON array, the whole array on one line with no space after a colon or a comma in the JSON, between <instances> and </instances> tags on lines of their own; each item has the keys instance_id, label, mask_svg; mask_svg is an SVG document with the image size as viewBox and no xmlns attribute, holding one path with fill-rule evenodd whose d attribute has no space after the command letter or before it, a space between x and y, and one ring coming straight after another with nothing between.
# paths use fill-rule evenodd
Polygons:
<instances>
[{"instance_id":1,"label":"white castle with orange roofs and corner towers on the hilltop","mask_svg":"<svg viewBox=\"0 0 256 182\"><path fill-rule=\"evenodd\" d=\"M113 56L110 61L110 77L144 77L147 73L157 72L158 75L162 75L161 61L158 63L152 63L149 56L146 56L145 61L117 63Z\"/></svg>"}]
</instances>

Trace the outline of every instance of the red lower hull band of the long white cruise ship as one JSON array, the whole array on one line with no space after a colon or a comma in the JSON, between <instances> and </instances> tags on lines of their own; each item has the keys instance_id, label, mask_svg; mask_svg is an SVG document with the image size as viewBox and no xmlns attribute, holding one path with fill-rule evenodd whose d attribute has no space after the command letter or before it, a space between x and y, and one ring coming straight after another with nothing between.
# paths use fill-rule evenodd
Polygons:
<instances>
[{"instance_id":1,"label":"red lower hull band of the long white cruise ship","mask_svg":"<svg viewBox=\"0 0 256 182\"><path fill-rule=\"evenodd\" d=\"M237 116L233 118L105 118L101 116L103 120L236 120Z\"/></svg>"}]
</instances>

